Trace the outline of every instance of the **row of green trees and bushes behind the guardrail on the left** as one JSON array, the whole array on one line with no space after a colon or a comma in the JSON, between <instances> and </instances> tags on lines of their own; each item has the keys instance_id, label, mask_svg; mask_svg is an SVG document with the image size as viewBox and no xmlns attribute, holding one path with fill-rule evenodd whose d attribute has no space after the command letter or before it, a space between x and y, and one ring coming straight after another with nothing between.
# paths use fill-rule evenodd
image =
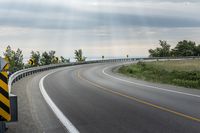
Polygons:
<instances>
[{"instance_id":1,"label":"row of green trees and bushes behind the guardrail on the left","mask_svg":"<svg viewBox=\"0 0 200 133\"><path fill-rule=\"evenodd\" d=\"M17 50L13 50L10 46L7 46L3 54L4 58L6 58L10 64L10 73L14 73L24 68L58 63L70 63L69 58L65 58L63 56L58 57L56 56L56 51L53 50L44 51L43 53L40 53L39 51L31 51L30 58L27 62L24 62L23 52L19 48ZM74 55L74 58L77 62L83 62L86 60L86 57L83 56L83 52L81 49L75 50Z\"/></svg>"}]
</instances>

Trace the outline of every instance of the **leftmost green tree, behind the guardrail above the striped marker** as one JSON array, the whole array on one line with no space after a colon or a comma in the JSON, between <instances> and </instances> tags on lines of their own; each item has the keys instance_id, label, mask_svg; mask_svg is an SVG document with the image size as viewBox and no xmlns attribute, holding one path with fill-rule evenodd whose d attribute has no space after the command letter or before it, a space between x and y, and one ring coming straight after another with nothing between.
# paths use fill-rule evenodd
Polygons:
<instances>
[{"instance_id":1,"label":"leftmost green tree, behind the guardrail above the striped marker","mask_svg":"<svg viewBox=\"0 0 200 133\"><path fill-rule=\"evenodd\" d=\"M23 54L20 49L17 49L17 51L14 51L11 49L10 46L7 46L6 51L4 52L5 58L8 59L10 68L10 72L16 72L20 69L23 69L24 63L23 63Z\"/></svg>"}]
</instances>

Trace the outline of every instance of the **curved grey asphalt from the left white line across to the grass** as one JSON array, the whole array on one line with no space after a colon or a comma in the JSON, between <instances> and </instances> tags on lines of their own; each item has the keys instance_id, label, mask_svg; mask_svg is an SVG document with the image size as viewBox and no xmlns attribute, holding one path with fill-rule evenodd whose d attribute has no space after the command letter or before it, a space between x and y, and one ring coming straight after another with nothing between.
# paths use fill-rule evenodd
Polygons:
<instances>
[{"instance_id":1,"label":"curved grey asphalt from the left white line across to the grass","mask_svg":"<svg viewBox=\"0 0 200 133\"><path fill-rule=\"evenodd\" d=\"M200 132L200 91L123 77L116 65L66 67L43 85L81 133Z\"/></svg>"}]
</instances>

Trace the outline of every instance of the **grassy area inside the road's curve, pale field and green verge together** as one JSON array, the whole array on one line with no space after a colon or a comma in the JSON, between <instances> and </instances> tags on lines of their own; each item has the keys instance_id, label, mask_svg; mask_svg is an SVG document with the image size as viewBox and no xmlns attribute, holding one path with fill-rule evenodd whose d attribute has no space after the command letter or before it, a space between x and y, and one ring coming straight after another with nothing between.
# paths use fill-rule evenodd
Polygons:
<instances>
[{"instance_id":1,"label":"grassy area inside the road's curve, pale field and green verge together","mask_svg":"<svg viewBox=\"0 0 200 133\"><path fill-rule=\"evenodd\" d=\"M119 73L151 82L200 89L200 60L138 62L122 66Z\"/></svg>"}]
</instances>

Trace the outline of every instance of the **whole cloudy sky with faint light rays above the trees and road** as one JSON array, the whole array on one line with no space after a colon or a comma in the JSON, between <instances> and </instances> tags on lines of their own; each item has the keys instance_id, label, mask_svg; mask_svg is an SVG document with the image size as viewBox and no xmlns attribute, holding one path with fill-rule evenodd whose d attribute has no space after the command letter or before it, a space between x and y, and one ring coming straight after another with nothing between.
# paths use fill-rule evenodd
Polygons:
<instances>
[{"instance_id":1,"label":"whole cloudy sky with faint light rays above the trees and road","mask_svg":"<svg viewBox=\"0 0 200 133\"><path fill-rule=\"evenodd\" d=\"M10 45L25 60L32 50L146 57L159 40L174 47L199 36L199 0L0 0L0 56Z\"/></svg>"}]
</instances>

